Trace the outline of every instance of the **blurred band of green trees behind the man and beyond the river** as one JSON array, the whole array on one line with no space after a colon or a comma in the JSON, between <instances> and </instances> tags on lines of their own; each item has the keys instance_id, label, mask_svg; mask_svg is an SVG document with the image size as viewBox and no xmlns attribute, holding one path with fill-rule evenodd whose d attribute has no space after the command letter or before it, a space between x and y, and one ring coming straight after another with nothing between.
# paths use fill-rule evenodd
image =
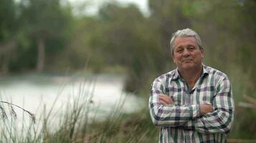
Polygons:
<instances>
[{"instance_id":1,"label":"blurred band of green trees behind the man and beyond the river","mask_svg":"<svg viewBox=\"0 0 256 143\"><path fill-rule=\"evenodd\" d=\"M127 91L147 97L152 80L175 68L171 34L190 27L203 41L204 64L231 79L235 102L242 101L243 94L255 97L256 1L149 0L149 7L148 17L132 4L113 2L103 4L97 15L74 16L60 0L2 0L0 46L10 39L17 41L7 61L9 71L32 70L37 65L37 41L43 38L45 70L76 71L86 65L93 72L125 69ZM238 109L236 117L241 112L246 109ZM250 114L237 119L231 137L255 135L250 133L255 124L244 128L255 116Z\"/></svg>"}]
</instances>

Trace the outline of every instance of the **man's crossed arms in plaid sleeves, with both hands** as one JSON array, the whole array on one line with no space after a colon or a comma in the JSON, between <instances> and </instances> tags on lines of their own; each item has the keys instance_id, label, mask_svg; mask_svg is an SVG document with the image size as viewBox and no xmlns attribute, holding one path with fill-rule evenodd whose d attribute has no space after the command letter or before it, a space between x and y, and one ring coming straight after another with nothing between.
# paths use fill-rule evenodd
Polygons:
<instances>
[{"instance_id":1,"label":"man's crossed arms in plaid sleeves, with both hands","mask_svg":"<svg viewBox=\"0 0 256 143\"><path fill-rule=\"evenodd\" d=\"M228 80L218 85L210 104L177 105L154 82L150 90L150 116L156 126L180 127L201 133L228 133L232 126L234 103Z\"/></svg>"}]
</instances>

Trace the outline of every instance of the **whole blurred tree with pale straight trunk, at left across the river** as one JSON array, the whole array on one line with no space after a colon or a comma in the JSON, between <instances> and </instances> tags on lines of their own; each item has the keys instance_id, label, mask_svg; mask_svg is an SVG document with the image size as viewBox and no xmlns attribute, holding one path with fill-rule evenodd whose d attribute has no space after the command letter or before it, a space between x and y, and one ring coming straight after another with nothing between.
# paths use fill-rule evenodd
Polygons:
<instances>
[{"instance_id":1,"label":"whole blurred tree with pale straight trunk, at left across the river","mask_svg":"<svg viewBox=\"0 0 256 143\"><path fill-rule=\"evenodd\" d=\"M22 1L23 28L37 41L37 71L45 66L47 41L55 39L65 42L66 30L70 24L70 9L62 6L60 0ZM63 40L60 40L63 39ZM60 45L63 46L63 45ZM49 47L58 51L56 47Z\"/></svg>"}]
</instances>

